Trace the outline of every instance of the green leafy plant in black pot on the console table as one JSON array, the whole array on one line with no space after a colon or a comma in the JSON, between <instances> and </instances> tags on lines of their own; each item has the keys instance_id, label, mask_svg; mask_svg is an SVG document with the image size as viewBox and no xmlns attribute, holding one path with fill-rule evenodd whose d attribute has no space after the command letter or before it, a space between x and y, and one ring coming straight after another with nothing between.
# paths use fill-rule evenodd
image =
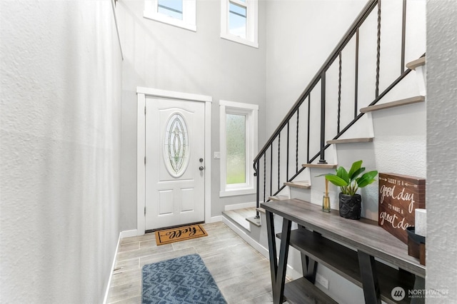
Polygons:
<instances>
[{"instance_id":1,"label":"green leafy plant in black pot on the console table","mask_svg":"<svg viewBox=\"0 0 457 304\"><path fill-rule=\"evenodd\" d=\"M358 188L363 188L375 181L378 171L369 171L363 173L365 168L362 167L362 161L355 161L351 169L346 171L345 168L336 169L336 174L323 174L326 180L340 187L339 208L340 216L358 220L361 214L361 195L356 193ZM363 175L361 175L363 173Z\"/></svg>"}]
</instances>

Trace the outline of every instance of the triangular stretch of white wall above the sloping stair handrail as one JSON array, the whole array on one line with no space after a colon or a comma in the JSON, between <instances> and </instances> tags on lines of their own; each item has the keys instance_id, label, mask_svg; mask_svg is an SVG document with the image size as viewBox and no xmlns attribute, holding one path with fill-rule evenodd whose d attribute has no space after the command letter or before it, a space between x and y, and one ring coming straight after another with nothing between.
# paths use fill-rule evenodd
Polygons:
<instances>
[{"instance_id":1,"label":"triangular stretch of white wall above the sloping stair handrail","mask_svg":"<svg viewBox=\"0 0 457 304\"><path fill-rule=\"evenodd\" d=\"M349 1L266 1L267 133L296 102L366 4Z\"/></svg>"}]
</instances>

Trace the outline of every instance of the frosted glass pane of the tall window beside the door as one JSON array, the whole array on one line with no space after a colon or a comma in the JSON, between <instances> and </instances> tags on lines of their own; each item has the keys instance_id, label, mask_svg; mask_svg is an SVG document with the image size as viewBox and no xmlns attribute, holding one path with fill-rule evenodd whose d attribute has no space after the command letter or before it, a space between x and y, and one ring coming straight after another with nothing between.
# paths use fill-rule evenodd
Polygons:
<instances>
[{"instance_id":1,"label":"frosted glass pane of the tall window beside the door","mask_svg":"<svg viewBox=\"0 0 457 304\"><path fill-rule=\"evenodd\" d=\"M246 183L246 116L227 114L227 184Z\"/></svg>"}]
</instances>

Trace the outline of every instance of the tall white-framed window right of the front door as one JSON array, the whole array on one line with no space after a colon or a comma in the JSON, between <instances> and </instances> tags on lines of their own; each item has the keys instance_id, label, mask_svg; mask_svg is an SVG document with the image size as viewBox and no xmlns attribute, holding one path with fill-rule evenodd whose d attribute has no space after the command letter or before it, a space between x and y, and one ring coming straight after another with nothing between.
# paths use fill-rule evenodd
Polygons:
<instances>
[{"instance_id":1,"label":"tall white-framed window right of the front door","mask_svg":"<svg viewBox=\"0 0 457 304\"><path fill-rule=\"evenodd\" d=\"M219 196L255 193L258 106L220 101L221 191Z\"/></svg>"}]
</instances>

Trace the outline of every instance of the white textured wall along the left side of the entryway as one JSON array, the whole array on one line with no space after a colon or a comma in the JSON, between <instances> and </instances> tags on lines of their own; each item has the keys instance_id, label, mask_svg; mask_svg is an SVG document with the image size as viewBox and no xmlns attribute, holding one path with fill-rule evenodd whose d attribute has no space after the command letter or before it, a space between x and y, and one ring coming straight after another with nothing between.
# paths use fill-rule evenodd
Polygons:
<instances>
[{"instance_id":1,"label":"white textured wall along the left side of the entryway","mask_svg":"<svg viewBox=\"0 0 457 304\"><path fill-rule=\"evenodd\" d=\"M1 1L2 303L101 303L119 238L111 1Z\"/></svg>"}]
</instances>

